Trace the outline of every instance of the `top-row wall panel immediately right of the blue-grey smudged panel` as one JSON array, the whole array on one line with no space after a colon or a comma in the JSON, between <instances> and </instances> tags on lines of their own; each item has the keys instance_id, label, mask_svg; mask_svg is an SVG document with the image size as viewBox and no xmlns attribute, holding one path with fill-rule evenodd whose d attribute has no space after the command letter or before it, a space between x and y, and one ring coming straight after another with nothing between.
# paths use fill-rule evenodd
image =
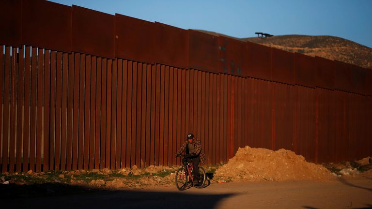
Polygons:
<instances>
[{"instance_id":1,"label":"top-row wall panel immediately right of the blue-grey smudged panel","mask_svg":"<svg viewBox=\"0 0 372 209\"><path fill-rule=\"evenodd\" d=\"M248 71L244 76L272 80L272 58L271 48L251 42L247 42L248 46L247 59Z\"/></svg>"}]
</instances>

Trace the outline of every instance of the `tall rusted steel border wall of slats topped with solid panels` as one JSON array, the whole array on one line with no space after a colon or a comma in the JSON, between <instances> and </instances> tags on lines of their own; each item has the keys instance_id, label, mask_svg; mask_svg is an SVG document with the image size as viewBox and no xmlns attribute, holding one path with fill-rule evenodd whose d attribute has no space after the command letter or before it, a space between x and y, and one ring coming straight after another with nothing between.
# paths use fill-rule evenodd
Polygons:
<instances>
[{"instance_id":1,"label":"tall rusted steel border wall of slats topped with solid panels","mask_svg":"<svg viewBox=\"0 0 372 209\"><path fill-rule=\"evenodd\" d=\"M179 164L189 132L207 164L247 145L371 155L371 69L75 5L0 6L1 171Z\"/></svg>"}]
</instances>

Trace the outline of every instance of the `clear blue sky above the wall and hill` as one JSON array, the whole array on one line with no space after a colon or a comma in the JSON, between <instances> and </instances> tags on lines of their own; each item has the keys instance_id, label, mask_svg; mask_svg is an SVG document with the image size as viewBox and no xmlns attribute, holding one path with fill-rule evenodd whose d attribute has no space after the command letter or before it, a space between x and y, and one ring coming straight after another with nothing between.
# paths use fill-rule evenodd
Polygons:
<instances>
[{"instance_id":1,"label":"clear blue sky above the wall and hill","mask_svg":"<svg viewBox=\"0 0 372 209\"><path fill-rule=\"evenodd\" d=\"M50 0L238 38L331 35L372 47L372 0Z\"/></svg>"}]
</instances>

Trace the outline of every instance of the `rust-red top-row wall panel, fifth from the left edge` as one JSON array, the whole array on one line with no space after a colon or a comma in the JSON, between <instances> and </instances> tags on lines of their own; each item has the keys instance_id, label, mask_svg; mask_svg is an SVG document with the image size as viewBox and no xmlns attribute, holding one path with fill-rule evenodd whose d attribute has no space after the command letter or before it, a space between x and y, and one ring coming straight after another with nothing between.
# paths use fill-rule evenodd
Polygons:
<instances>
[{"instance_id":1,"label":"rust-red top-row wall panel, fifth from the left edge","mask_svg":"<svg viewBox=\"0 0 372 209\"><path fill-rule=\"evenodd\" d=\"M188 31L155 22L156 63L188 68Z\"/></svg>"}]
</instances>

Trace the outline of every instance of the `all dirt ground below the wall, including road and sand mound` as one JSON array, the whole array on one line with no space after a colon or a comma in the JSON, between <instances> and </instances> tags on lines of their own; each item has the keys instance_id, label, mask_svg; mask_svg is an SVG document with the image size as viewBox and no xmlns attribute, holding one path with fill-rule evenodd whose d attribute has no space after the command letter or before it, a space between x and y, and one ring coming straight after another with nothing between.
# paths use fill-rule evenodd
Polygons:
<instances>
[{"instance_id":1,"label":"all dirt ground below the wall, including road and sand mound","mask_svg":"<svg viewBox=\"0 0 372 209\"><path fill-rule=\"evenodd\" d=\"M179 166L0 174L0 201L16 208L372 208L372 164L312 164L279 149L240 148L204 166L207 185L178 191ZM63 204L55 204L63 203Z\"/></svg>"}]
</instances>

